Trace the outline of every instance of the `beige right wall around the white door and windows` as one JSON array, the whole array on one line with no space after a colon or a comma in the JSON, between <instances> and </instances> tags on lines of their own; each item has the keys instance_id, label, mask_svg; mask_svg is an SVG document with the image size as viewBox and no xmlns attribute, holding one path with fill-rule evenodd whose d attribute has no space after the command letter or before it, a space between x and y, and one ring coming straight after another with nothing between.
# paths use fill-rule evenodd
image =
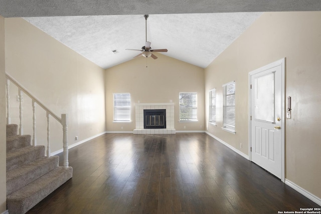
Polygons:
<instances>
[{"instance_id":1,"label":"beige right wall around the white door and windows","mask_svg":"<svg viewBox=\"0 0 321 214\"><path fill-rule=\"evenodd\" d=\"M285 178L317 197L321 197L320 50L321 12L264 13L205 69L206 93L217 88L218 96L217 127L208 123L208 131L248 154L248 73L286 58L292 118L285 121ZM222 84L232 80L236 81L235 135L221 129Z\"/></svg>"}]
</instances>

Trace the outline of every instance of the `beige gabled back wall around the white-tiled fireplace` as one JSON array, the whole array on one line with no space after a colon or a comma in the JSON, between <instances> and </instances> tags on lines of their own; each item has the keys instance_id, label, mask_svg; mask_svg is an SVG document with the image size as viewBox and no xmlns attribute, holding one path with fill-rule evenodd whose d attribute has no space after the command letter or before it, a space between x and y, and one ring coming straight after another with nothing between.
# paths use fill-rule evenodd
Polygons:
<instances>
[{"instance_id":1,"label":"beige gabled back wall around the white-tiled fireplace","mask_svg":"<svg viewBox=\"0 0 321 214\"><path fill-rule=\"evenodd\" d=\"M175 103L176 130L204 130L204 69L162 54L158 59L139 57L106 70L107 131L132 131L135 128L135 106L140 103ZM133 55L134 56L134 55ZM131 123L113 123L113 93L131 95ZM198 122L179 121L179 93L197 92ZM121 126L123 129L121 129ZM184 126L186 128L184 128Z\"/></svg>"}]
</instances>

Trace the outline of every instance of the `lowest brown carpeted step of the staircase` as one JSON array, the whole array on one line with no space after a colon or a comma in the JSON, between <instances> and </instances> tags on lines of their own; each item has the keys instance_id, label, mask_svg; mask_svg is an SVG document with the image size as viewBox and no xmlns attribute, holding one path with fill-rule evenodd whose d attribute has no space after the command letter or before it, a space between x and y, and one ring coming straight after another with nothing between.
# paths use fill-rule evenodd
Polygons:
<instances>
[{"instance_id":1,"label":"lowest brown carpeted step of the staircase","mask_svg":"<svg viewBox=\"0 0 321 214\"><path fill-rule=\"evenodd\" d=\"M59 166L27 186L7 196L10 214L26 213L30 208L48 196L72 177L72 167Z\"/></svg>"}]
</instances>

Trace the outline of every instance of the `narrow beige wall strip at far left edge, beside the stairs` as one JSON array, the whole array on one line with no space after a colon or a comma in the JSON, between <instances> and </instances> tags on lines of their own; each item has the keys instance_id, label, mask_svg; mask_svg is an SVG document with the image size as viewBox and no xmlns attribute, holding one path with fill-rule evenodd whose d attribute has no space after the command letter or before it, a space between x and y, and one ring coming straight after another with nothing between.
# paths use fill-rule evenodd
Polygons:
<instances>
[{"instance_id":1,"label":"narrow beige wall strip at far left edge, beside the stairs","mask_svg":"<svg viewBox=\"0 0 321 214\"><path fill-rule=\"evenodd\" d=\"M5 18L0 16L0 213L7 210L6 194L6 75L5 75Z\"/></svg>"}]
</instances>

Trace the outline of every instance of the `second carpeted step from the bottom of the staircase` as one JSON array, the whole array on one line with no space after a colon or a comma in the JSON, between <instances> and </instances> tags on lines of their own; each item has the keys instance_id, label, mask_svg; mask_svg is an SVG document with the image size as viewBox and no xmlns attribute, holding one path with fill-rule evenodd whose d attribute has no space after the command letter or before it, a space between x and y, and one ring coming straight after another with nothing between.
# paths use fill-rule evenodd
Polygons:
<instances>
[{"instance_id":1,"label":"second carpeted step from the bottom of the staircase","mask_svg":"<svg viewBox=\"0 0 321 214\"><path fill-rule=\"evenodd\" d=\"M7 172L7 195L58 167L59 157L42 157Z\"/></svg>"}]
</instances>

